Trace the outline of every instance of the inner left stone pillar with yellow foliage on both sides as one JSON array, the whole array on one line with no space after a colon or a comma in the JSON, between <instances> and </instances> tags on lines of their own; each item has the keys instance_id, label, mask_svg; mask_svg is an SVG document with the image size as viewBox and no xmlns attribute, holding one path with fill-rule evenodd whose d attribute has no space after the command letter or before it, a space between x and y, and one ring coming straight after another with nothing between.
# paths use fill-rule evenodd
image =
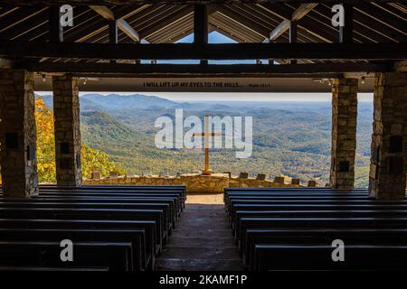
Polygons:
<instances>
[{"instance_id":1,"label":"inner left stone pillar with yellow foliage on both sides","mask_svg":"<svg viewBox=\"0 0 407 289\"><path fill-rule=\"evenodd\" d=\"M80 186L80 104L78 79L52 77L56 178L59 186Z\"/></svg>"}]
</instances>

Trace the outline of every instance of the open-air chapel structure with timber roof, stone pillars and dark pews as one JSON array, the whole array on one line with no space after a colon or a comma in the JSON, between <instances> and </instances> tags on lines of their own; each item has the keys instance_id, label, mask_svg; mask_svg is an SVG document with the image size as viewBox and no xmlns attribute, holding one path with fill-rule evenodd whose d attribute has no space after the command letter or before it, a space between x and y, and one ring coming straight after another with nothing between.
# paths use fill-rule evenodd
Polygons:
<instances>
[{"instance_id":1,"label":"open-air chapel structure with timber roof, stone pillars and dark pews","mask_svg":"<svg viewBox=\"0 0 407 289\"><path fill-rule=\"evenodd\" d=\"M166 246L184 210L185 188L81 186L80 168L79 91L148 89L331 91L330 188L225 191L224 201L244 264L252 270L287 268L286 257L315 254L315 268L336 269L329 263L332 260L307 247L319 244L322 251L327 250L330 244L321 245L318 229L336 228L343 234L339 237L345 236L352 244L372 245L370 241L383 240L387 247L374 243L380 263L407 267L407 247L402 247L399 239L407 236L406 2L3 0L0 5L0 269L58 268L62 265L52 252L59 250L60 244L50 240L59 242L68 235L79 240L78 250L83 252L77 260L78 270L155 268L155 257ZM212 32L236 43L209 43L208 33ZM177 42L190 33L194 33L194 42ZM163 60L198 62L175 65L160 63ZM241 60L252 60L253 64L212 62ZM155 81L232 81L238 85L148 88L147 83ZM34 90L53 93L54 186L38 183ZM358 92L374 93L367 191L353 190ZM291 199L285 199L288 196ZM261 203L260 198L267 203ZM285 200L288 203L284 204ZM265 207L260 210L259 206ZM282 216L285 220L273 220ZM58 225L52 225L52 219ZM134 224L120 223L123 219ZM275 228L270 224L286 229L279 242L287 239L289 244L297 244L306 233L312 238L284 255L284 250L270 245L277 238L270 234L277 233L249 232L251 226ZM308 232L301 231L305 227ZM30 228L37 230L35 234ZM43 228L54 232L42 232ZM111 228L131 228L134 234L123 231L115 235ZM387 233L382 228L388 229ZM390 228L400 230L397 233ZM324 234L332 237L335 232ZM48 243L35 245L26 241L30 239ZM103 246L107 242L113 245ZM131 246L137 247L133 251L138 255L118 254L128 252ZM40 249L49 253L45 263L37 264L34 256L27 259L22 253ZM109 257L90 254L100 250ZM350 268L374 266L364 263L363 248L350 246L349 250L355 251L354 256L361 252L355 264L349 261ZM281 263L270 264L270 256L280 258Z\"/></svg>"}]
</instances>

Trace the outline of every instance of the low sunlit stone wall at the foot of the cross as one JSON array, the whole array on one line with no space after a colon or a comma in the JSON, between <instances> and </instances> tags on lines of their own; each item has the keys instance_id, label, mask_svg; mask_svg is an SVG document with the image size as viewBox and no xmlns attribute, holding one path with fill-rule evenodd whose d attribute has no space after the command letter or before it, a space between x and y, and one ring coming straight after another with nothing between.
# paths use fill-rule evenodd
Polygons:
<instances>
[{"instance_id":1,"label":"low sunlit stone wall at the foot of the cross","mask_svg":"<svg viewBox=\"0 0 407 289\"><path fill-rule=\"evenodd\" d=\"M294 179L295 180L295 179ZM232 187L299 187L299 184L286 182L273 182L271 180L256 180L254 178L229 177L228 173L213 173L202 175L200 173L186 173L178 177L161 176L118 176L101 179L84 180L83 184L115 184L115 185L185 185L188 192L222 193L224 188Z\"/></svg>"}]
</instances>

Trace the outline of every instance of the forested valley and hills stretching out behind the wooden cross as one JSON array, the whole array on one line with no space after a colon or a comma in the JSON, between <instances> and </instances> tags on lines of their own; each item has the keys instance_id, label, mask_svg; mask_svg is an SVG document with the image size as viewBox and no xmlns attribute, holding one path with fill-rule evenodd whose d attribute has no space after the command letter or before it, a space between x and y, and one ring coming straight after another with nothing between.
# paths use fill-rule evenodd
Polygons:
<instances>
[{"instance_id":1,"label":"forested valley and hills stretching out behind the wooden cross","mask_svg":"<svg viewBox=\"0 0 407 289\"><path fill-rule=\"evenodd\" d=\"M51 106L52 98L44 97ZM51 100L50 100L51 99ZM264 172L327 182L330 166L331 105L328 102L200 102L164 98L85 95L80 98L83 143L109 155L128 173L200 171L202 150L156 148L156 117L194 115L253 117L253 154L236 159L233 150L211 152L215 172ZM366 186L372 130L372 104L359 104L356 185Z\"/></svg>"}]
</instances>

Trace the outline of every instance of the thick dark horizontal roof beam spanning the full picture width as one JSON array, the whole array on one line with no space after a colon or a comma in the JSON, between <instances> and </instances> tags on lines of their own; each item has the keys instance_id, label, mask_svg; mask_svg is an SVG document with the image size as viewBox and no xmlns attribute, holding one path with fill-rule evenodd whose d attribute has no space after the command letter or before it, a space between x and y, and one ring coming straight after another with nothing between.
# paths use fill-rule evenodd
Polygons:
<instances>
[{"instance_id":1,"label":"thick dark horizontal roof beam spanning the full picture width","mask_svg":"<svg viewBox=\"0 0 407 289\"><path fill-rule=\"evenodd\" d=\"M224 43L194 45L97 44L0 41L0 55L14 57L57 57L94 59L317 59L317 60L402 60L403 43Z\"/></svg>"}]
</instances>

